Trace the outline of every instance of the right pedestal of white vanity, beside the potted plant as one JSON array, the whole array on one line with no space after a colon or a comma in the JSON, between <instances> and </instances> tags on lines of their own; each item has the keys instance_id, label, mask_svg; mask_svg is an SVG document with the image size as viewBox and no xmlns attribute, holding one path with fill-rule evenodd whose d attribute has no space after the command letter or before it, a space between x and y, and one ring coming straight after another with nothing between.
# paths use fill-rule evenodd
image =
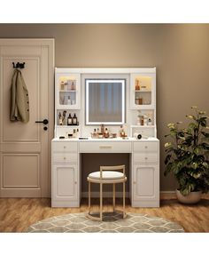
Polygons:
<instances>
[{"instance_id":1,"label":"right pedestal of white vanity, beside the potted plant","mask_svg":"<svg viewBox=\"0 0 209 256\"><path fill-rule=\"evenodd\" d=\"M159 141L133 144L132 206L159 207Z\"/></svg>"}]
</instances>

